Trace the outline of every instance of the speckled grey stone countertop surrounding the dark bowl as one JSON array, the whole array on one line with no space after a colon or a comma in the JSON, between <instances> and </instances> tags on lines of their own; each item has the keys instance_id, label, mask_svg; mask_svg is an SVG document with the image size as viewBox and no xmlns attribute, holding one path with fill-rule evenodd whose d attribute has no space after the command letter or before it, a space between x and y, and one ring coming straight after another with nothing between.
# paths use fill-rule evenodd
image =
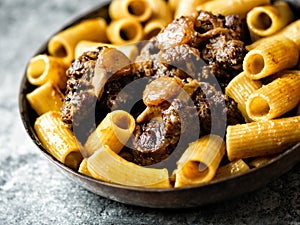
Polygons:
<instances>
[{"instance_id":1,"label":"speckled grey stone countertop surrounding the dark bowl","mask_svg":"<svg viewBox=\"0 0 300 225\"><path fill-rule=\"evenodd\" d=\"M68 180L25 133L18 90L28 60L94 0L0 0L0 224L300 224L300 165L239 198L156 210L97 196Z\"/></svg>"}]
</instances>

